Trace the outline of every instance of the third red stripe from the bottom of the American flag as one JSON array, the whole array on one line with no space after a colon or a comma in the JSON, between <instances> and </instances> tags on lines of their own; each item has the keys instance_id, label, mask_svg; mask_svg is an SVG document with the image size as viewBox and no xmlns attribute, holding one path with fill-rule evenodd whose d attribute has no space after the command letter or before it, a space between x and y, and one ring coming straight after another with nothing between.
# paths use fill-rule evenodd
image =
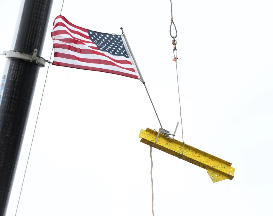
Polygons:
<instances>
[{"instance_id":1,"label":"third red stripe from the bottom of the American flag","mask_svg":"<svg viewBox=\"0 0 273 216\"><path fill-rule=\"evenodd\" d=\"M112 61L115 61L117 63L132 65L131 61L113 59L113 58L109 57L108 55L105 55L104 53L101 53L101 52L98 52L98 51L95 51L95 50L80 49L80 48L76 48L76 47L73 47L73 46L70 46L70 45L65 45L65 44L53 44L53 47L54 48L61 48L61 49L65 49L65 50L71 50L73 52L78 52L78 53L81 53L81 54L102 55L102 56L105 56L105 57L107 57L107 58L109 58Z\"/></svg>"}]
</instances>

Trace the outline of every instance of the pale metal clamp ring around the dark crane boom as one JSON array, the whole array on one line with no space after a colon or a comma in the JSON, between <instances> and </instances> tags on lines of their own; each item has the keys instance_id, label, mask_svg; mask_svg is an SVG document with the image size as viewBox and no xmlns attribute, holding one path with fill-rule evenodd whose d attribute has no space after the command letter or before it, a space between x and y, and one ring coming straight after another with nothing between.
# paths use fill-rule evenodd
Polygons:
<instances>
[{"instance_id":1,"label":"pale metal clamp ring around the dark crane boom","mask_svg":"<svg viewBox=\"0 0 273 216\"><path fill-rule=\"evenodd\" d=\"M37 52L38 50L34 49L34 52L31 55L31 54L26 54L26 53L10 50L10 51L4 51L3 54L1 55L5 55L6 58L10 58L10 59L22 59L25 61L29 61L39 65L40 67L44 67L46 65L46 62L52 63L51 61L48 61L42 57L37 56Z\"/></svg>"}]
</instances>

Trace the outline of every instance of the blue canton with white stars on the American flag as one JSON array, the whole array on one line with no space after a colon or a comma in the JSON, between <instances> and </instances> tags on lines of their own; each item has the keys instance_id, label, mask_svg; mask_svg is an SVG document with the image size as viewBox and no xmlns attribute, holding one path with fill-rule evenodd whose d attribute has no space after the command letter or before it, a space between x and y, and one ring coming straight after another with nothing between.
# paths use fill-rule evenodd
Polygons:
<instances>
[{"instance_id":1,"label":"blue canton with white stars on the American flag","mask_svg":"<svg viewBox=\"0 0 273 216\"><path fill-rule=\"evenodd\" d=\"M98 49L109 52L112 55L123 55L129 58L119 34L106 34L88 30L90 39L97 45Z\"/></svg>"}]
</instances>

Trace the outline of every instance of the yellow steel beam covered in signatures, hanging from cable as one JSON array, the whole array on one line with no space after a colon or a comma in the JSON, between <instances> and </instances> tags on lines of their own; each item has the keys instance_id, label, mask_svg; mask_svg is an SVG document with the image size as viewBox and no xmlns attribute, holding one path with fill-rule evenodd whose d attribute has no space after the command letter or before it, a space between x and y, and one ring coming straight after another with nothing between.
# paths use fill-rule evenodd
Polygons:
<instances>
[{"instance_id":1,"label":"yellow steel beam covered in signatures, hanging from cable","mask_svg":"<svg viewBox=\"0 0 273 216\"><path fill-rule=\"evenodd\" d=\"M139 133L139 138L141 138L140 142L150 146L153 145L157 133L158 132L150 128L147 128L146 130L141 129ZM213 182L219 182L225 179L232 180L234 177L235 168L231 167L230 162L224 161L187 144L185 144L183 151L182 142L176 139L168 139L166 138L166 135L162 133L160 133L154 147L208 170L208 174Z\"/></svg>"}]
</instances>

